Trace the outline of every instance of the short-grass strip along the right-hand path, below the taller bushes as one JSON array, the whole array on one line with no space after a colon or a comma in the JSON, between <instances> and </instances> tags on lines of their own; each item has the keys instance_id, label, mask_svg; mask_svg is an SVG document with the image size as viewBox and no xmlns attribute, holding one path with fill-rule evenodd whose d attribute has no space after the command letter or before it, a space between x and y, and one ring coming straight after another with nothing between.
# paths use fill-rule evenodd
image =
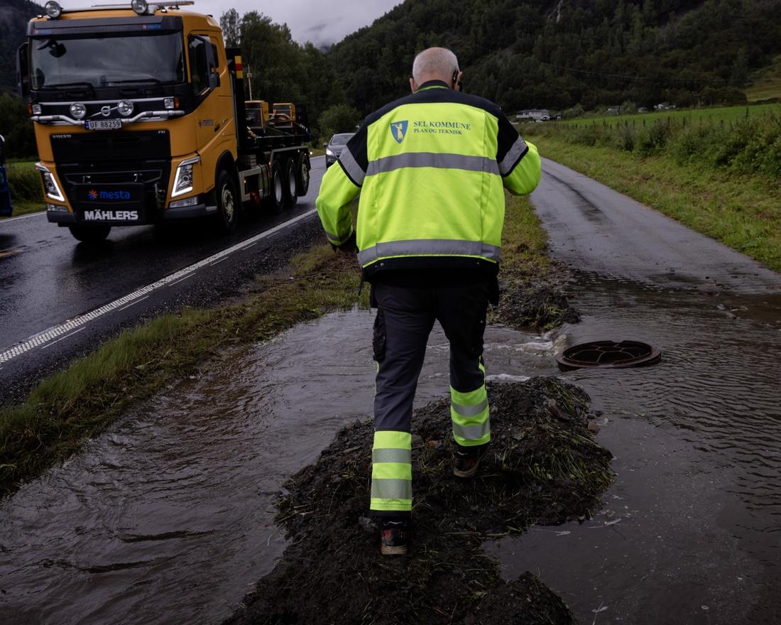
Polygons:
<instances>
[{"instance_id":1,"label":"short-grass strip along the right-hand path, below the taller bushes","mask_svg":"<svg viewBox=\"0 0 781 625\"><path fill-rule=\"evenodd\" d=\"M781 190L757 176L667 156L641 158L615 148L533 137L540 154L599 180L781 272Z\"/></svg>"}]
</instances>

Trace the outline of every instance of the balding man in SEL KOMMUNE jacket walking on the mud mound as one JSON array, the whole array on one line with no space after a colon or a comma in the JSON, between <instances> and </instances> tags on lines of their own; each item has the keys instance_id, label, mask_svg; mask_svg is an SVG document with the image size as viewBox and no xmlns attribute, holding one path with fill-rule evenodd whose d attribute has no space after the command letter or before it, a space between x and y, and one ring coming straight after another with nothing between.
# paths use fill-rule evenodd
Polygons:
<instances>
[{"instance_id":1,"label":"balding man in SEL KOMMUNE jacket walking on the mud mound","mask_svg":"<svg viewBox=\"0 0 781 625\"><path fill-rule=\"evenodd\" d=\"M461 93L461 77L450 50L420 52L412 95L366 118L316 200L331 245L357 246L377 308L370 510L384 555L407 552L412 400L434 320L450 342L453 473L472 477L490 441L483 330L498 299L504 190L540 180L537 148L497 105Z\"/></svg>"}]
</instances>

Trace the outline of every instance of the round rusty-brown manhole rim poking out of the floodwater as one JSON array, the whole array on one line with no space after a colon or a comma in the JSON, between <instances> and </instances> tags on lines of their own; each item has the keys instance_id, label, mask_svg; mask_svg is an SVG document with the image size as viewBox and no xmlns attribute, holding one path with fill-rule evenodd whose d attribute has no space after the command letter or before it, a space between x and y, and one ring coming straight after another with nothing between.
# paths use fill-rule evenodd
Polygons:
<instances>
[{"instance_id":1,"label":"round rusty-brown manhole rim poking out of the floodwater","mask_svg":"<svg viewBox=\"0 0 781 625\"><path fill-rule=\"evenodd\" d=\"M556 356L562 371L601 367L619 369L658 363L662 352L641 341L589 341L566 348Z\"/></svg>"}]
</instances>

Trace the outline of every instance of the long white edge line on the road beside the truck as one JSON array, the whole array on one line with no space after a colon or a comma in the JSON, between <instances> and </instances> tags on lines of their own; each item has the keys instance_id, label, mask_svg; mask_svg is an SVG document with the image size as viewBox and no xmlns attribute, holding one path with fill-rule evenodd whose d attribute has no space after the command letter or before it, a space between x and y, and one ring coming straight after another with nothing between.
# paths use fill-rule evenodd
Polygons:
<instances>
[{"instance_id":1,"label":"long white edge line on the road beside the truck","mask_svg":"<svg viewBox=\"0 0 781 625\"><path fill-rule=\"evenodd\" d=\"M62 340L62 338L67 338L66 336L63 336L63 334L69 334L70 332L72 332L72 330L75 330L80 326L84 326L90 321L94 321L98 319L98 317L101 317L106 313L111 313L116 309L122 309L123 307L127 307L127 305L129 305L131 302L132 303L140 302L141 298L143 298L144 296L148 297L149 295L152 294L152 291L156 291L157 289L162 287L170 286L171 284L176 284L177 282L180 282L181 280L184 280L187 277L191 277L191 275L195 271L201 269L201 267L212 265L213 263L216 263L216 261L218 261L219 259L224 259L226 256L229 256L232 253L236 252L237 250L246 247L248 241L251 244L255 244L256 242L261 241L262 239L270 237L272 234L276 234L280 230L284 230L284 228L287 228L288 226L292 226L295 223L298 223L299 221L303 221L307 219L308 217L314 215L315 213L316 213L316 209L310 209L306 213L301 213L301 215L295 216L291 220L287 220L284 223L279 223L273 228L269 228L269 230L264 230L260 234L255 234L254 237L248 238L246 241L241 241L241 243L237 243L236 245L233 245L230 248L225 248L223 249L222 252L217 252L216 254L209 256L208 259L199 260L198 263L194 263L191 266L185 267L184 269L179 270L176 273L171 273L169 276L157 280L152 284L147 284L147 286L141 287L136 291L129 293L128 295L123 295L123 297L119 299L115 299L113 302L110 302L109 304L102 305L100 308L91 310L89 313L85 313L84 315L73 317L73 319L67 320L65 323L61 323L59 326L50 327L48 330L44 330L43 332L34 334L30 338L27 338L24 341L18 343L17 345L14 345L12 348L5 350L5 352L0 352L0 364L7 363L9 360L16 358L16 356L20 356L26 352L29 352L30 349L34 349L37 347L41 347L41 345L47 345L49 343L52 343L53 341L55 341L55 339L57 341L60 341ZM75 334L75 332L73 334Z\"/></svg>"}]
</instances>

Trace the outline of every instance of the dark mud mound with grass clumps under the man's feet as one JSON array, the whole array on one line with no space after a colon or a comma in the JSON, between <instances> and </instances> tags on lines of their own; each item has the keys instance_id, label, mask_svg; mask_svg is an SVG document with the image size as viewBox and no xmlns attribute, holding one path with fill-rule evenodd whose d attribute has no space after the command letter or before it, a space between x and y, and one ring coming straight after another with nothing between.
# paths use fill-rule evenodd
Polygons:
<instances>
[{"instance_id":1,"label":"dark mud mound with grass clumps under the man's feet","mask_svg":"<svg viewBox=\"0 0 781 625\"><path fill-rule=\"evenodd\" d=\"M501 580L483 541L533 523L583 519L612 480L612 455L587 430L589 398L554 378L492 384L490 451L473 480L451 473L446 400L413 420L414 534L380 555L366 518L372 423L337 434L278 501L291 545L226 623L572 623L531 573Z\"/></svg>"}]
</instances>

